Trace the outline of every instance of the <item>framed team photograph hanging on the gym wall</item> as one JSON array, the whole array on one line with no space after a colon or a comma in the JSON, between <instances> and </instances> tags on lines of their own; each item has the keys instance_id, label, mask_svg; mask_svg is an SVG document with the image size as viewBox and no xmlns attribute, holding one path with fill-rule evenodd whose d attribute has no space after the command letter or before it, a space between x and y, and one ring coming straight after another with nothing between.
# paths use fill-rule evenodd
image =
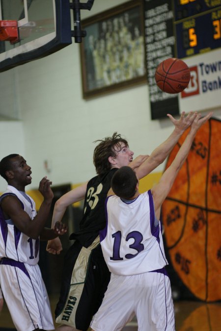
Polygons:
<instances>
[{"instance_id":1,"label":"framed team photograph hanging on the gym wall","mask_svg":"<svg viewBox=\"0 0 221 331\"><path fill-rule=\"evenodd\" d=\"M82 21L83 98L147 81L142 0L132 0Z\"/></svg>"}]
</instances>

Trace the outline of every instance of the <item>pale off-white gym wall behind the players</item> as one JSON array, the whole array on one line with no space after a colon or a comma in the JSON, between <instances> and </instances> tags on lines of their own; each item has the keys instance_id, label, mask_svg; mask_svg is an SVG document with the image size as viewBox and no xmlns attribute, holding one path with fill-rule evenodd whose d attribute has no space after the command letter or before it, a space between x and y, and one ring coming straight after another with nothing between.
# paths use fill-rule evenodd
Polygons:
<instances>
[{"instance_id":1,"label":"pale off-white gym wall behind the players","mask_svg":"<svg viewBox=\"0 0 221 331\"><path fill-rule=\"evenodd\" d=\"M91 11L82 11L81 17L124 2L95 0ZM114 131L129 141L137 156L151 153L173 130L167 118L151 120L146 82L83 100L80 63L79 45L73 39L61 51L0 73L0 114L6 110L12 119L21 119L0 121L0 158L24 155L32 168L27 190L36 189L45 175L54 185L77 184L95 176L93 141ZM163 169L164 164L156 170L158 177ZM0 191L5 186L0 178Z\"/></svg>"}]
</instances>

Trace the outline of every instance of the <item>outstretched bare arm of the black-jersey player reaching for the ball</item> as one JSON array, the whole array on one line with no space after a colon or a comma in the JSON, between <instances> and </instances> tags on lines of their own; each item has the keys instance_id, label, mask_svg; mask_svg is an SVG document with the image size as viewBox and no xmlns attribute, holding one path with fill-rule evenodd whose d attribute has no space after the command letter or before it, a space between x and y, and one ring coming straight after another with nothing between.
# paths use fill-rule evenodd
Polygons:
<instances>
[{"instance_id":1,"label":"outstretched bare arm of the black-jersey player reaching for the ball","mask_svg":"<svg viewBox=\"0 0 221 331\"><path fill-rule=\"evenodd\" d=\"M172 117L172 115L167 114L175 128L170 136L163 142L160 146L158 146L148 158L135 169L138 179L145 177L155 168L157 168L161 163L164 162L168 154L172 151L173 147L178 142L179 138L182 136L184 131L191 126L193 120L196 118L196 112L190 112L185 117L185 112L182 112L179 120L176 120ZM131 165L130 165L131 166Z\"/></svg>"}]
</instances>

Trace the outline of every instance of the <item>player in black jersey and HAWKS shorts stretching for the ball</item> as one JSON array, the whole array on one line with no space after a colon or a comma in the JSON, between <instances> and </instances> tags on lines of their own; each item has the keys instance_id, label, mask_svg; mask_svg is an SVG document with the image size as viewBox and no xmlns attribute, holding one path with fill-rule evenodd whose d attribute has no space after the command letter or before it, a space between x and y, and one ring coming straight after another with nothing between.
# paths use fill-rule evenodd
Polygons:
<instances>
[{"instance_id":1,"label":"player in black jersey and HAWKS shorts stretching for the ball","mask_svg":"<svg viewBox=\"0 0 221 331\"><path fill-rule=\"evenodd\" d=\"M111 178L122 166L132 167L138 178L143 178L161 164L173 149L183 132L192 124L196 113L185 112L179 120L168 117L175 128L170 136L149 155L139 155L133 160L128 142L116 132L112 137L99 140L94 150L97 176L63 195L55 203L52 226L60 221L68 205L84 199L80 230L73 233L75 239L64 258L64 271L59 302L55 309L57 330L86 331L92 316L101 305L110 280L110 273L102 255L99 230L106 224L105 199L111 187ZM48 242L47 251L59 254L59 239Z\"/></svg>"}]
</instances>

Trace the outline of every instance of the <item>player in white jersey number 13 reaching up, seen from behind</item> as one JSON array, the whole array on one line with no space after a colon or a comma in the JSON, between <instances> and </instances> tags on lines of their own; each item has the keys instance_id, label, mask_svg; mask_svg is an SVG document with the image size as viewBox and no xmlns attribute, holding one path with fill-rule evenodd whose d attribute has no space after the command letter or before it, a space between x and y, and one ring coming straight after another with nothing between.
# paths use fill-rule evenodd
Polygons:
<instances>
[{"instance_id":1,"label":"player in white jersey number 13 reaching up, seen from behind","mask_svg":"<svg viewBox=\"0 0 221 331\"><path fill-rule=\"evenodd\" d=\"M93 331L118 331L134 314L139 331L175 331L174 308L161 234L160 209L186 160L204 118L197 114L191 129L159 183L142 194L130 167L118 169L106 200L106 227L100 241L111 280L91 323ZM110 194L115 194L110 196Z\"/></svg>"}]
</instances>

